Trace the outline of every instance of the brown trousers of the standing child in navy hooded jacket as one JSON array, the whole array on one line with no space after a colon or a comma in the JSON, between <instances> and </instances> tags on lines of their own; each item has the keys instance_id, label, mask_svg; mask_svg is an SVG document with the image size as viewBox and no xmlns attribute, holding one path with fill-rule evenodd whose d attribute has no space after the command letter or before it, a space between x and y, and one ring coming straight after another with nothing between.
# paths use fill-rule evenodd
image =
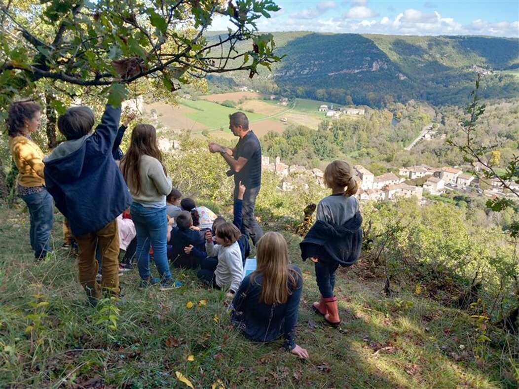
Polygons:
<instances>
[{"instance_id":1,"label":"brown trousers of the standing child in navy hooded jacket","mask_svg":"<svg viewBox=\"0 0 519 389\"><path fill-rule=\"evenodd\" d=\"M85 288L87 295L101 298L101 289L114 296L119 295L119 233L117 219L112 220L98 231L74 237L77 242L79 255L79 282ZM95 281L99 266L95 260L95 251L99 247L103 278L101 285Z\"/></svg>"}]
</instances>

